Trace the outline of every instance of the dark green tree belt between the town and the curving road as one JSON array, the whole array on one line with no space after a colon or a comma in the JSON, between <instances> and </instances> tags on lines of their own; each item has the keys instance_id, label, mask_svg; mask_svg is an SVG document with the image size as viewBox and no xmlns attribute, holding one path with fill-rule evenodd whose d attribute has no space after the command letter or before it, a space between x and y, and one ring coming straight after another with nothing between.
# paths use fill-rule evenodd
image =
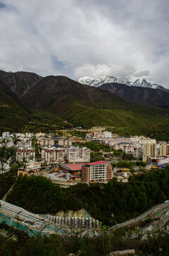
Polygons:
<instances>
[{"instance_id":1,"label":"dark green tree belt between the town and the curving road","mask_svg":"<svg viewBox=\"0 0 169 256\"><path fill-rule=\"evenodd\" d=\"M129 183L112 178L106 185L79 183L69 188L56 186L42 176L19 176L6 200L34 213L85 208L93 218L112 225L133 218L168 198L169 171L165 169L134 175Z\"/></svg>"}]
</instances>

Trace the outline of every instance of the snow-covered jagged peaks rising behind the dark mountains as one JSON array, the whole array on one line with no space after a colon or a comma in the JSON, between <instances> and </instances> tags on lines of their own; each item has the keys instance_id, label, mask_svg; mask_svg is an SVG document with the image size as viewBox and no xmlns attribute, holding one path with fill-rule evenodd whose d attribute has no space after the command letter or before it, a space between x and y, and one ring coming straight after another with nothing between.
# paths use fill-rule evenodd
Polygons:
<instances>
[{"instance_id":1,"label":"snow-covered jagged peaks rising behind the dark mountains","mask_svg":"<svg viewBox=\"0 0 169 256\"><path fill-rule=\"evenodd\" d=\"M91 78L91 77L83 77L79 78L78 82L80 82L83 85L90 85L94 87L99 87L100 85L115 82L115 83L120 83L123 85L128 85L128 86L136 86L136 87L146 87L146 88L151 88L151 89L159 89L159 90L165 90L169 91L167 88L163 87L162 85L156 85L156 84L151 84L151 82L147 82L145 79L136 79L134 82L131 82L125 78L115 78L110 75L103 75L99 76L96 78Z\"/></svg>"}]
</instances>

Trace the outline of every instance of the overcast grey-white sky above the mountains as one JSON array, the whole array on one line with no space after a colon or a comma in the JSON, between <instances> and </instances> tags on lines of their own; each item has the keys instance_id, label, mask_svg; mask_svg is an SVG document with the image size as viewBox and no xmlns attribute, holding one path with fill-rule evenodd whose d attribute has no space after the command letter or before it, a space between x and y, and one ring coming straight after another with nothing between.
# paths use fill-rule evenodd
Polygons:
<instances>
[{"instance_id":1,"label":"overcast grey-white sky above the mountains","mask_svg":"<svg viewBox=\"0 0 169 256\"><path fill-rule=\"evenodd\" d=\"M168 0L0 0L0 67L169 87Z\"/></svg>"}]
</instances>

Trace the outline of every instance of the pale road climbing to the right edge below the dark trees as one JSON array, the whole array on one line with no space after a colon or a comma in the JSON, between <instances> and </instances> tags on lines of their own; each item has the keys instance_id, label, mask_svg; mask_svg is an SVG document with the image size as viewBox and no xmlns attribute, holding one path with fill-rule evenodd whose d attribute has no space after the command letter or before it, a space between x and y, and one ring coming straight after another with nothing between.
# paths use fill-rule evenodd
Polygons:
<instances>
[{"instance_id":1,"label":"pale road climbing to the right edge below the dark trees","mask_svg":"<svg viewBox=\"0 0 169 256\"><path fill-rule=\"evenodd\" d=\"M161 203L158 206L154 206L153 208L151 208L150 210L147 210L145 213L139 215L136 218L133 218L131 220L127 220L124 223L119 223L117 225L114 225L114 226L112 226L112 229L121 228L121 227L124 227L125 225L132 224L132 223L134 223L138 220L141 220L141 219L145 218L147 215L153 213L153 211L161 210L163 208L166 208L167 206L169 206L169 201L166 202L166 203Z\"/></svg>"}]
</instances>

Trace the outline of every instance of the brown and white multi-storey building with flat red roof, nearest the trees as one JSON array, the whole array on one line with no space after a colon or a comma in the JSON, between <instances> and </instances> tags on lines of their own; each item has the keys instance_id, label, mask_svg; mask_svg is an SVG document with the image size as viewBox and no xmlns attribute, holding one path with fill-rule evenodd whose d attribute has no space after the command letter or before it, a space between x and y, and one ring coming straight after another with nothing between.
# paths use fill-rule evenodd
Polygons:
<instances>
[{"instance_id":1,"label":"brown and white multi-storey building with flat red roof, nearest the trees","mask_svg":"<svg viewBox=\"0 0 169 256\"><path fill-rule=\"evenodd\" d=\"M110 181L112 179L112 165L107 161L96 161L81 167L81 179L90 181Z\"/></svg>"}]
</instances>

